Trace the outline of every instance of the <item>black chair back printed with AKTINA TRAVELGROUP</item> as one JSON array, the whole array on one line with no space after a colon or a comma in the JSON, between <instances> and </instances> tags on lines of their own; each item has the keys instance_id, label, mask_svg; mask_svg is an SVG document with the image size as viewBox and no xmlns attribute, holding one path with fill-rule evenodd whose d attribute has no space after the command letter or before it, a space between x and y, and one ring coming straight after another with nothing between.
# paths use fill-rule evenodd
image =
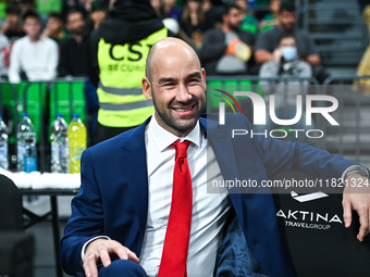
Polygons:
<instances>
[{"instance_id":1,"label":"black chair back printed with AKTINA TRAVELGROUP","mask_svg":"<svg viewBox=\"0 0 370 277\"><path fill-rule=\"evenodd\" d=\"M314 180L303 172L287 172L270 180ZM274 194L276 216L283 242L298 277L369 277L370 238L356 239L358 216L346 229L343 222L342 193L320 189L297 189ZM331 191L332 192L332 191Z\"/></svg>"}]
</instances>

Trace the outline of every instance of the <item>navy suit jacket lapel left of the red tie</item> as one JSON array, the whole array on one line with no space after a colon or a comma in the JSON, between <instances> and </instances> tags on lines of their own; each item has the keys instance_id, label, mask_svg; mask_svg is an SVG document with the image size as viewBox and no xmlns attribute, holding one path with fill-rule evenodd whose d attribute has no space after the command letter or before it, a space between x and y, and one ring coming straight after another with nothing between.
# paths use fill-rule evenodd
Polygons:
<instances>
[{"instance_id":1,"label":"navy suit jacket lapel left of the red tie","mask_svg":"<svg viewBox=\"0 0 370 277\"><path fill-rule=\"evenodd\" d=\"M145 126L150 117L134 129L130 138L123 144L125 159L123 160L123 172L127 179L127 186L134 197L135 210L137 212L143 242L148 215L148 173L145 147Z\"/></svg>"}]
</instances>

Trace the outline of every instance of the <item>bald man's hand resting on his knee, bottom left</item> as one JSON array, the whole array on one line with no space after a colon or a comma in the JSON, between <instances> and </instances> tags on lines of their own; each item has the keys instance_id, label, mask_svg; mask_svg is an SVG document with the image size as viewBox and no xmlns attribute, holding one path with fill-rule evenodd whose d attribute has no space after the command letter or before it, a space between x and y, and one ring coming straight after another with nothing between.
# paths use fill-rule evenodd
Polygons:
<instances>
[{"instance_id":1,"label":"bald man's hand resting on his knee, bottom left","mask_svg":"<svg viewBox=\"0 0 370 277\"><path fill-rule=\"evenodd\" d=\"M97 239L87 244L84 256L84 270L87 277L98 276L97 263L100 260L104 267L111 264L110 254L116 254L121 260L138 263L139 260L128 248L115 240Z\"/></svg>"}]
</instances>

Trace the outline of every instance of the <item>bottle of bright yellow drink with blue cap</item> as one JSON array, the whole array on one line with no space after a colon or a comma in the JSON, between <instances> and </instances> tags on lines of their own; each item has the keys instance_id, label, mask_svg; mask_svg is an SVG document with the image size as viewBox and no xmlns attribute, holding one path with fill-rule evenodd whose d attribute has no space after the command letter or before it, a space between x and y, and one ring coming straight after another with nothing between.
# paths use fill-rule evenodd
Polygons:
<instances>
[{"instance_id":1,"label":"bottle of bright yellow drink with blue cap","mask_svg":"<svg viewBox=\"0 0 370 277\"><path fill-rule=\"evenodd\" d=\"M78 114L74 114L69 126L70 173L81 172L81 156L86 149L86 127Z\"/></svg>"}]
</instances>

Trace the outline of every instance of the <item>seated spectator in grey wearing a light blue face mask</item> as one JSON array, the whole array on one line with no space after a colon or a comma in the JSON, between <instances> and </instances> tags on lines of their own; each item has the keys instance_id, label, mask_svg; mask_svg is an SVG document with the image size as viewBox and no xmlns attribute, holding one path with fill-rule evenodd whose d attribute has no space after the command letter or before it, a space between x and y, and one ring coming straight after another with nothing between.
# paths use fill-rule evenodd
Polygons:
<instances>
[{"instance_id":1,"label":"seated spectator in grey wearing a light blue face mask","mask_svg":"<svg viewBox=\"0 0 370 277\"><path fill-rule=\"evenodd\" d=\"M298 55L296 38L292 33L282 33L279 47L273 52L273 59L261 65L259 77L262 79L275 77L291 79L278 83L262 80L261 86L267 96L275 96L276 117L281 119L294 118L296 114L296 95L305 95L308 86L308 81L299 83L297 78L311 78L312 70L310 64ZM270 117L268 116L268 118ZM305 118L305 116L301 116L301 118ZM276 128L272 122L264 127L268 129ZM305 129L307 126L303 122L298 122L293 127Z\"/></svg>"}]
</instances>

